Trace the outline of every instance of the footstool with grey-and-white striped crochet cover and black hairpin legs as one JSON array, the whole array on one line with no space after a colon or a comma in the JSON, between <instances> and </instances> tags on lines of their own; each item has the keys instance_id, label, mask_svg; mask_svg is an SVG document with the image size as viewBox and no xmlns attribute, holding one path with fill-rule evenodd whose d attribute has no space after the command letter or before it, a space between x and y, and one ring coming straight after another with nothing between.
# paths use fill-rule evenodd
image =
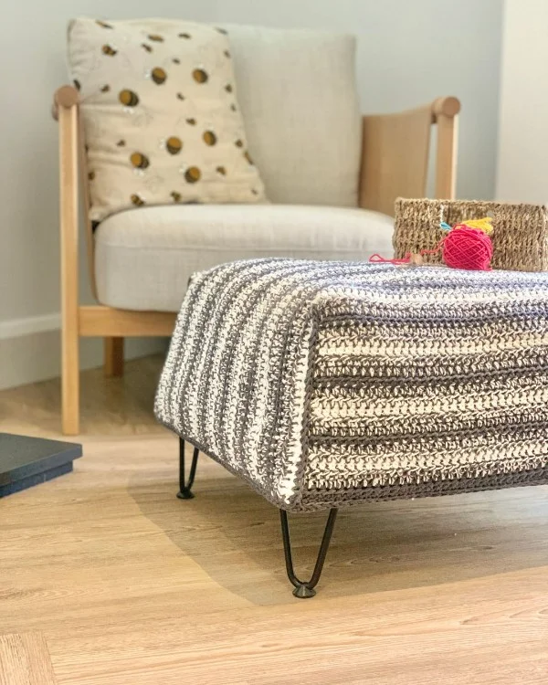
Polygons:
<instances>
[{"instance_id":1,"label":"footstool with grey-and-white striped crochet cover and black hairpin legs","mask_svg":"<svg viewBox=\"0 0 548 685\"><path fill-rule=\"evenodd\" d=\"M339 507L548 482L547 403L547 275L267 258L191 279L155 412L179 497L200 451L248 482L310 597ZM287 512L321 509L301 581Z\"/></svg>"}]
</instances>

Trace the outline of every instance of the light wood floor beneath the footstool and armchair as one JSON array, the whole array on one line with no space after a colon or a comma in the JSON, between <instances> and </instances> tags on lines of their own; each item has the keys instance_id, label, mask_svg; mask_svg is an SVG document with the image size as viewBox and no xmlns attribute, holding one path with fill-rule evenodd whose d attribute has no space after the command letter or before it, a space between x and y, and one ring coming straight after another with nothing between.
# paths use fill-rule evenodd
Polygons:
<instances>
[{"instance_id":1,"label":"light wood floor beneath the footstool and armchair","mask_svg":"<svg viewBox=\"0 0 548 685\"><path fill-rule=\"evenodd\" d=\"M548 683L548 488L342 511L297 600L266 501L206 458L175 499L160 364L83 374L75 472L0 501L2 685ZM58 436L58 405L0 393L0 430ZM310 572L324 516L291 521Z\"/></svg>"}]
</instances>

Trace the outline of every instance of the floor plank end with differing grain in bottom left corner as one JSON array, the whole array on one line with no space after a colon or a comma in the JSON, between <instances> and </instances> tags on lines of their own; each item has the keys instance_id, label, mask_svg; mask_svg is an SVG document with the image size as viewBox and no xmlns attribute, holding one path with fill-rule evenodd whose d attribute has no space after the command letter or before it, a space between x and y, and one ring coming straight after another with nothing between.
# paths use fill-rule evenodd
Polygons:
<instances>
[{"instance_id":1,"label":"floor plank end with differing grain in bottom left corner","mask_svg":"<svg viewBox=\"0 0 548 685\"><path fill-rule=\"evenodd\" d=\"M0 685L57 685L42 633L0 635Z\"/></svg>"}]
</instances>

